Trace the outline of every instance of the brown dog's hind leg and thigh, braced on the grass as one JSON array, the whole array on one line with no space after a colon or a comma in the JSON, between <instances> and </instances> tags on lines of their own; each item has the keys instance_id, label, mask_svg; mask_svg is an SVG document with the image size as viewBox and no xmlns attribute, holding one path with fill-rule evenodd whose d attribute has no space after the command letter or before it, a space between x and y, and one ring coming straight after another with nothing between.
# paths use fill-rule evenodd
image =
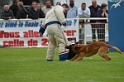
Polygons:
<instances>
[{"instance_id":1,"label":"brown dog's hind leg and thigh, braced on the grass","mask_svg":"<svg viewBox=\"0 0 124 82\"><path fill-rule=\"evenodd\" d=\"M98 54L106 60L111 60L111 58L107 56L107 52L108 52L107 47L101 47L98 51Z\"/></svg>"}]
</instances>

